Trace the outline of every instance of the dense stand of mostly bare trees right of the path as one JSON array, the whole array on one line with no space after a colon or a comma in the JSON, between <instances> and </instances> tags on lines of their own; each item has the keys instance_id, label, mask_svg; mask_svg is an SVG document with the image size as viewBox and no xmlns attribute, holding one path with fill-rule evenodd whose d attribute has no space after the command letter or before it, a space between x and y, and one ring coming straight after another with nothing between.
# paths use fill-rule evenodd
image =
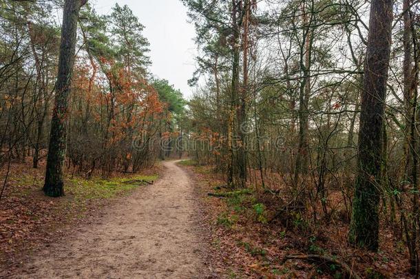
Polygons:
<instances>
[{"instance_id":1,"label":"dense stand of mostly bare trees right of the path","mask_svg":"<svg viewBox=\"0 0 420 279\"><path fill-rule=\"evenodd\" d=\"M183 3L200 51L188 112L196 161L229 187L277 193L296 222L353 220L355 245L376 250L392 229L414 272L418 3Z\"/></svg>"}]
</instances>

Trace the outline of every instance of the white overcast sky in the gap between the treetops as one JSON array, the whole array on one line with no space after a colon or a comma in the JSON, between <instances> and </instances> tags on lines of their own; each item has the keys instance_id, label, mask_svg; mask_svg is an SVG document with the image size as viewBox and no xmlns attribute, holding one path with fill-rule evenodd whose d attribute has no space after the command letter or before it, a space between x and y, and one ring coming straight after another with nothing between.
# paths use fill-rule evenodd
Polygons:
<instances>
[{"instance_id":1,"label":"white overcast sky in the gap between the treetops","mask_svg":"<svg viewBox=\"0 0 420 279\"><path fill-rule=\"evenodd\" d=\"M90 0L100 14L109 14L116 2L129 6L145 25L151 73L174 84L185 98L191 97L192 89L187 81L195 70L193 38L196 33L193 24L187 22L185 6L179 0Z\"/></svg>"}]
</instances>

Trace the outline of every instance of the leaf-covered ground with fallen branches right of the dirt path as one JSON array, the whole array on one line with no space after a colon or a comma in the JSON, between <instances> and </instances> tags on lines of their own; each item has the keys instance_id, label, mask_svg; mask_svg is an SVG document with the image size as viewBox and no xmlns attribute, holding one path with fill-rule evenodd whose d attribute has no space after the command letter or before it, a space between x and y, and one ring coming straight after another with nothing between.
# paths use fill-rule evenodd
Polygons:
<instances>
[{"instance_id":1,"label":"leaf-covered ground with fallen branches right of the dirt path","mask_svg":"<svg viewBox=\"0 0 420 279\"><path fill-rule=\"evenodd\" d=\"M231 192L213 166L179 164L200 197L211 230L209 254L220 278L413 278L405 247L389 231L381 234L378 253L356 249L348 245L345 222L314 226L287 212L279 216L273 195L258 197L251 188Z\"/></svg>"}]
</instances>

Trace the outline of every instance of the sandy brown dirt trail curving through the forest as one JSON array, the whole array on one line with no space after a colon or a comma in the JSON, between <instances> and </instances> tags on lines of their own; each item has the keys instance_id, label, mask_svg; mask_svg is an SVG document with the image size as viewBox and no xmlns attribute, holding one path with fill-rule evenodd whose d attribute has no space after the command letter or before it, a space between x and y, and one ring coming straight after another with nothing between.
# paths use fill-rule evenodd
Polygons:
<instances>
[{"instance_id":1,"label":"sandy brown dirt trail curving through the forest","mask_svg":"<svg viewBox=\"0 0 420 279\"><path fill-rule=\"evenodd\" d=\"M205 278L189 178L175 162L67 240L36 253L12 278Z\"/></svg>"}]
</instances>

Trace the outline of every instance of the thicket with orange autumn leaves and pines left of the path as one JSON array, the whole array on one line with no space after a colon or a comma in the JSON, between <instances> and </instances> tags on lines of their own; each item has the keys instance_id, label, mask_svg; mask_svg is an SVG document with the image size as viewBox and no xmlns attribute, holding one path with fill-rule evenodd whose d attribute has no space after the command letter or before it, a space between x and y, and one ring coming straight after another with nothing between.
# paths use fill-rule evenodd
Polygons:
<instances>
[{"instance_id":1,"label":"thicket with orange autumn leaves and pines left of the path","mask_svg":"<svg viewBox=\"0 0 420 279\"><path fill-rule=\"evenodd\" d=\"M63 14L54 1L0 3L1 166L28 157L33 167L45 162L61 85L61 22L53 14ZM182 95L149 72L145 27L128 6L116 4L105 16L87 3L76 23L68 110L59 122L67 132L65 167L90 176L153 165L160 134L174 130L183 113Z\"/></svg>"}]
</instances>

